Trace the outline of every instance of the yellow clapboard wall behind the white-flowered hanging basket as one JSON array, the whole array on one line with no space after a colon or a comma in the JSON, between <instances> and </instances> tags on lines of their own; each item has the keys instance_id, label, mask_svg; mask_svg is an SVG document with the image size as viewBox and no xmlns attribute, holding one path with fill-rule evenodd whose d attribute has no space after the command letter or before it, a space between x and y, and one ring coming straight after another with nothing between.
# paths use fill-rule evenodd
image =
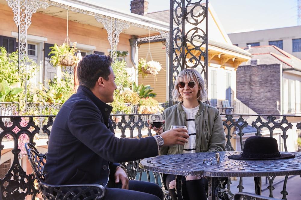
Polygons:
<instances>
[{"instance_id":1,"label":"yellow clapboard wall behind the white-flowered hanging basket","mask_svg":"<svg viewBox=\"0 0 301 200\"><path fill-rule=\"evenodd\" d=\"M162 42L153 42L150 43L151 55L154 61L160 62L162 65L162 70L157 74L157 81L154 76L148 75L147 77L142 78L141 74L138 76L138 84L151 85L151 88L154 89L154 93L157 94L155 99L160 103L166 102L166 88L168 83L166 82L166 47ZM148 43L141 44L138 49L138 59L146 58L148 52ZM151 60L151 56L147 56L147 61ZM168 89L168 88L167 88ZM167 97L168 98L168 97Z\"/></svg>"}]
</instances>

